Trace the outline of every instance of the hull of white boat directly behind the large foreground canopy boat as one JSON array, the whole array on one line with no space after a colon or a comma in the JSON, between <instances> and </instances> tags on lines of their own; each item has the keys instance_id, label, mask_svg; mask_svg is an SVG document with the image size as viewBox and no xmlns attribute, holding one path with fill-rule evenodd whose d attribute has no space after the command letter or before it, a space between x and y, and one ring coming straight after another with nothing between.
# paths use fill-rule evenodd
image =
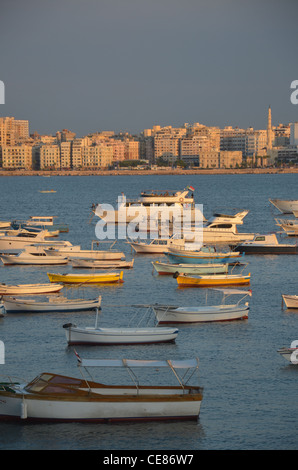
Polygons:
<instances>
[{"instance_id":1,"label":"hull of white boat directly behind the large foreground canopy boat","mask_svg":"<svg viewBox=\"0 0 298 470\"><path fill-rule=\"evenodd\" d=\"M173 342L176 328L78 328L65 325L68 344L149 344Z\"/></svg>"}]
</instances>

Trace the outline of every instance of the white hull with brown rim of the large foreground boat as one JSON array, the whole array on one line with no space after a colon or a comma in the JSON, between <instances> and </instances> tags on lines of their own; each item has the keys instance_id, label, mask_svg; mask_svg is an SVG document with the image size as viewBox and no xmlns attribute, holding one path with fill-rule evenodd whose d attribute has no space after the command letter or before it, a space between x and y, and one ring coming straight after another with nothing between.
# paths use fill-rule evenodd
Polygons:
<instances>
[{"instance_id":1,"label":"white hull with brown rim of the large foreground boat","mask_svg":"<svg viewBox=\"0 0 298 470\"><path fill-rule=\"evenodd\" d=\"M38 398L18 395L1 396L0 420L45 421L45 422L121 422L121 421L160 421L197 420L202 397L183 395L173 396L128 395L123 398L115 395L103 396L98 400L70 400L67 398ZM22 412L23 409L23 412ZM22 414L23 413L23 414Z\"/></svg>"}]
</instances>

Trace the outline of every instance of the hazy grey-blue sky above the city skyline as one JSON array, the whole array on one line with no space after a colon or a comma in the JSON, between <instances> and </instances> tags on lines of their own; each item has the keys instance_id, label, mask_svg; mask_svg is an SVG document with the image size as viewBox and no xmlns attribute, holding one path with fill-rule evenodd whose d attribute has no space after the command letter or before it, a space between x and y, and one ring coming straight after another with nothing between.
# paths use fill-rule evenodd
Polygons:
<instances>
[{"instance_id":1,"label":"hazy grey-blue sky above the city skyline","mask_svg":"<svg viewBox=\"0 0 298 470\"><path fill-rule=\"evenodd\" d=\"M297 0L0 0L1 116L83 136L298 121Z\"/></svg>"}]
</instances>

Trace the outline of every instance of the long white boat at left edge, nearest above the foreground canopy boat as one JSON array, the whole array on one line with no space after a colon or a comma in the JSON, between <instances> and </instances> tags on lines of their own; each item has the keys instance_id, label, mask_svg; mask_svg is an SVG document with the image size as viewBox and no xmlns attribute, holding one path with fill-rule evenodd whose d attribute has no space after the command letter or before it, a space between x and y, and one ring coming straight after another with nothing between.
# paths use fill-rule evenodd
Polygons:
<instances>
[{"instance_id":1,"label":"long white boat at left edge, nearest above the foreground canopy boat","mask_svg":"<svg viewBox=\"0 0 298 470\"><path fill-rule=\"evenodd\" d=\"M46 300L5 297L2 300L7 313L75 312L100 308L101 296L97 299L67 299L51 296Z\"/></svg>"}]
</instances>

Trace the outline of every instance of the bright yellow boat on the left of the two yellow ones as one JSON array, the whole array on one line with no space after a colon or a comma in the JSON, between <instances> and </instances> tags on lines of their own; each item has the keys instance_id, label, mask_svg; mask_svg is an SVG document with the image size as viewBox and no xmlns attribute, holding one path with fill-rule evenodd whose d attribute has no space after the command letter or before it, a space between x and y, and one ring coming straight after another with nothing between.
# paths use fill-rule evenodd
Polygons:
<instances>
[{"instance_id":1,"label":"bright yellow boat on the left of the two yellow ones","mask_svg":"<svg viewBox=\"0 0 298 470\"><path fill-rule=\"evenodd\" d=\"M92 273L92 274L54 274L47 273L50 282L63 282L64 284L108 284L123 281L123 271L119 273Z\"/></svg>"}]
</instances>

